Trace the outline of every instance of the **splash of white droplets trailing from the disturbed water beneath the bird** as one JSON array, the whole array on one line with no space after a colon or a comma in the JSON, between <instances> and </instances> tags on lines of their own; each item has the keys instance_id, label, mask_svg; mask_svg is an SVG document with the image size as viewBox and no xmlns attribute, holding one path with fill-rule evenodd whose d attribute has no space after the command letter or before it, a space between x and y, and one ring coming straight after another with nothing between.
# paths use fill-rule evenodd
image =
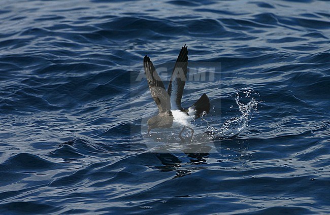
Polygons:
<instances>
[{"instance_id":1,"label":"splash of white droplets trailing from the disturbed water beneath the bird","mask_svg":"<svg viewBox=\"0 0 330 215\"><path fill-rule=\"evenodd\" d=\"M154 151L156 150L157 152L166 152L168 150L184 151L189 153L201 151L203 148L203 150L209 152L210 149L205 148L206 146L203 144L209 143L210 140L212 142L214 138L230 138L239 134L248 126L249 121L251 120L254 111L257 110L257 105L259 103L259 101L257 101L254 97L251 97L253 92L253 90L246 88L244 88L241 92L236 90L235 101L239 107L240 115L226 120L220 128L218 128L216 125L211 125L213 123L217 123L217 120L213 120L212 118L206 120L204 117L207 116L207 114L203 113L201 116L201 123L197 125L193 123L191 125L195 131L192 138L192 145L189 144L189 141L178 142L178 132L181 130L181 128L176 132L173 132L173 130L167 131L167 129L160 129L159 132L153 132L151 135L149 135L149 137L154 139L154 142L148 142L148 148ZM246 104L241 102L240 93L243 93L245 98L251 97L250 101L248 101ZM258 95L258 93L254 94ZM193 122L196 121L193 120ZM190 135L190 131L185 131L182 133L184 139L189 139ZM166 145L164 145L164 143L166 143ZM199 144L202 145L200 146ZM191 148L192 146L194 146L194 148ZM200 148L196 150L196 147Z\"/></svg>"}]
</instances>

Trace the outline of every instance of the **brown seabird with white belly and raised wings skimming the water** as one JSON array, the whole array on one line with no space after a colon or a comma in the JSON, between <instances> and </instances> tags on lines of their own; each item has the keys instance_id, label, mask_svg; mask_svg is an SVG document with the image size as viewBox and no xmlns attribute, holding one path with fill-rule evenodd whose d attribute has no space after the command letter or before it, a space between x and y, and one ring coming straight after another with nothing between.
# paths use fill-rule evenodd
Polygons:
<instances>
[{"instance_id":1,"label":"brown seabird with white belly and raised wings skimming the water","mask_svg":"<svg viewBox=\"0 0 330 215\"><path fill-rule=\"evenodd\" d=\"M174 128L183 126L179 137L184 141L181 134L187 127L191 130L191 142L194 130L189 127L189 122L210 111L210 99L205 93L190 106L190 108L184 109L181 106L183 88L187 79L187 48L188 47L184 45L180 51L167 91L150 58L146 55L143 59L144 71L148 80L151 96L159 109L159 114L148 120L148 134L150 130L154 128Z\"/></svg>"}]
</instances>

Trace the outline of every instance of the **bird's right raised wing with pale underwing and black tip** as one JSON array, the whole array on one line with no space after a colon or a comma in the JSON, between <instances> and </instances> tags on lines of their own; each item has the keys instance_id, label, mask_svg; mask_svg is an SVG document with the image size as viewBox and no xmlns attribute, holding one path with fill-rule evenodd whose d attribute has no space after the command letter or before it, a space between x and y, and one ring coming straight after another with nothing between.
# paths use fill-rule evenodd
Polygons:
<instances>
[{"instance_id":1,"label":"bird's right raised wing with pale underwing and black tip","mask_svg":"<svg viewBox=\"0 0 330 215\"><path fill-rule=\"evenodd\" d=\"M182 110L181 98L183 88L187 79L188 66L188 47L184 45L180 51L177 62L175 63L168 93L171 97L171 106L173 110Z\"/></svg>"}]
</instances>

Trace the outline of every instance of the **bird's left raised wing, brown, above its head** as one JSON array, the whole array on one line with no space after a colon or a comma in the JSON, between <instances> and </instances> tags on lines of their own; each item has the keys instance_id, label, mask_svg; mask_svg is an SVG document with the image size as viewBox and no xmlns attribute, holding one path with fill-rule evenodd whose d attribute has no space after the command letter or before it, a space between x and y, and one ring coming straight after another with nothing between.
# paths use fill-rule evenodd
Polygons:
<instances>
[{"instance_id":1,"label":"bird's left raised wing, brown, above its head","mask_svg":"<svg viewBox=\"0 0 330 215\"><path fill-rule=\"evenodd\" d=\"M143 59L143 65L151 96L158 106L159 113L171 110L170 96L166 92L164 84L162 83L154 65L147 55Z\"/></svg>"}]
</instances>

